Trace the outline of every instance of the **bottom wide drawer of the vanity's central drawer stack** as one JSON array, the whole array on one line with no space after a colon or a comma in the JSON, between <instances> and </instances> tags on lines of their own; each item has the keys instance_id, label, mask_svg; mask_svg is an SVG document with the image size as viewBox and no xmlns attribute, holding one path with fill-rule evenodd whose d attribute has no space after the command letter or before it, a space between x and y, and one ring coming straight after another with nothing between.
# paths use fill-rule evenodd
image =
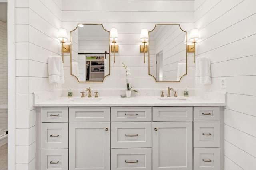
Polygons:
<instances>
[{"instance_id":1,"label":"bottom wide drawer of the vanity's central drawer stack","mask_svg":"<svg viewBox=\"0 0 256 170\"><path fill-rule=\"evenodd\" d=\"M111 170L151 170L151 148L111 149Z\"/></svg>"}]
</instances>

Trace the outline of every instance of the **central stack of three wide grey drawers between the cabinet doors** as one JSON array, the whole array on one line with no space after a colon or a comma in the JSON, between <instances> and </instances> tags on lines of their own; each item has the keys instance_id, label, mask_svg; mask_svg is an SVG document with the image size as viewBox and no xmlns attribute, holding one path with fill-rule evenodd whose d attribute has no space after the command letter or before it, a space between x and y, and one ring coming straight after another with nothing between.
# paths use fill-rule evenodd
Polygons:
<instances>
[{"instance_id":1,"label":"central stack of three wide grey drawers between the cabinet doors","mask_svg":"<svg viewBox=\"0 0 256 170\"><path fill-rule=\"evenodd\" d=\"M111 108L111 170L151 170L151 107Z\"/></svg>"}]
</instances>

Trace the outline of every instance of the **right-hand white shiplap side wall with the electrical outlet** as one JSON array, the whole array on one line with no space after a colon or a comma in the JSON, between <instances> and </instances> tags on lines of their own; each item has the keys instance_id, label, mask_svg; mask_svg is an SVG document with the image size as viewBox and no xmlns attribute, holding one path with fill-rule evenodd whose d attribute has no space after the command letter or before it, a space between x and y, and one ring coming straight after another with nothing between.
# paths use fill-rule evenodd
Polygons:
<instances>
[{"instance_id":1,"label":"right-hand white shiplap side wall with the electrical outlet","mask_svg":"<svg viewBox=\"0 0 256 170\"><path fill-rule=\"evenodd\" d=\"M224 169L256 169L256 1L195 0L196 27L201 42L197 56L211 60L212 84L226 90L224 110ZM220 88L226 78L226 89Z\"/></svg>"}]
</instances>

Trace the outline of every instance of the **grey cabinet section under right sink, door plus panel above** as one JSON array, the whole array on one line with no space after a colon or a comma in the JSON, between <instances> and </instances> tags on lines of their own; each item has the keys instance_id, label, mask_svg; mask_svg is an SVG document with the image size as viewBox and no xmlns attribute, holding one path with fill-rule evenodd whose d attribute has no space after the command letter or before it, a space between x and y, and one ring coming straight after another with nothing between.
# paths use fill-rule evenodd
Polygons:
<instances>
[{"instance_id":1,"label":"grey cabinet section under right sink, door plus panel above","mask_svg":"<svg viewBox=\"0 0 256 170\"><path fill-rule=\"evenodd\" d=\"M153 107L153 170L192 170L192 117L192 107Z\"/></svg>"}]
</instances>

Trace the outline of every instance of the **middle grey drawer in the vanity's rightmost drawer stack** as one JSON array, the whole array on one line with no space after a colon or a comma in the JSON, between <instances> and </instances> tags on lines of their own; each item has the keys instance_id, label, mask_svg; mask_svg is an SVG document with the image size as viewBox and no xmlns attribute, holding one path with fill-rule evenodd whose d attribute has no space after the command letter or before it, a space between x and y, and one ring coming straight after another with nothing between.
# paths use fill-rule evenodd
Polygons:
<instances>
[{"instance_id":1,"label":"middle grey drawer in the vanity's rightmost drawer stack","mask_svg":"<svg viewBox=\"0 0 256 170\"><path fill-rule=\"evenodd\" d=\"M220 122L194 122L194 147L220 147Z\"/></svg>"}]
</instances>

